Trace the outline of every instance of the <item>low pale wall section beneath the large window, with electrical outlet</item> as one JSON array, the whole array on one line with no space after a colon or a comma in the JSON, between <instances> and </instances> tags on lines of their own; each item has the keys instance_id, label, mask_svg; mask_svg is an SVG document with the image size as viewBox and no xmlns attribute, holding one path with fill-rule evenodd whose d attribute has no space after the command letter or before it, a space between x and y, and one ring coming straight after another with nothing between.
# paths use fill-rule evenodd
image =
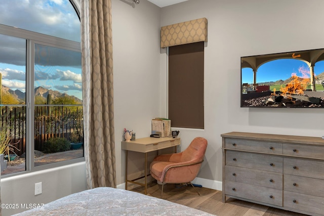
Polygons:
<instances>
[{"instance_id":1,"label":"low pale wall section beneath the large window, with electrical outlet","mask_svg":"<svg viewBox=\"0 0 324 216\"><path fill-rule=\"evenodd\" d=\"M85 162L35 171L1 179L1 201L18 204L19 208L2 209L2 215L24 210L20 204L48 203L55 199L87 189ZM35 183L42 182L42 194L34 195Z\"/></svg>"}]
</instances>

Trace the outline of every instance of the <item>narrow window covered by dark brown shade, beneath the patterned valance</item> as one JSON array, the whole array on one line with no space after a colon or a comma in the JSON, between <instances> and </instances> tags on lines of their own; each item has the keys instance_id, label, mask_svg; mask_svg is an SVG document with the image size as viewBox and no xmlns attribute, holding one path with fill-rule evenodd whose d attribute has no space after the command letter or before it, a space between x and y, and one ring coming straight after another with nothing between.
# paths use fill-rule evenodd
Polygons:
<instances>
[{"instance_id":1,"label":"narrow window covered by dark brown shade, beneath the patterned valance","mask_svg":"<svg viewBox=\"0 0 324 216\"><path fill-rule=\"evenodd\" d=\"M169 119L204 128L204 42L169 47Z\"/></svg>"}]
</instances>

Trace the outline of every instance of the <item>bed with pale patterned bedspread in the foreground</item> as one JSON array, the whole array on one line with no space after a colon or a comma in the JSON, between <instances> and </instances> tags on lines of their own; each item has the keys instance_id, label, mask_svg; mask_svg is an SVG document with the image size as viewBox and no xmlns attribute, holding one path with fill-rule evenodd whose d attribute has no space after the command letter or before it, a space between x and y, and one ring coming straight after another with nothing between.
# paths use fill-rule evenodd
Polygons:
<instances>
[{"instance_id":1,"label":"bed with pale patterned bedspread in the foreground","mask_svg":"<svg viewBox=\"0 0 324 216\"><path fill-rule=\"evenodd\" d=\"M71 194L42 208L15 215L212 215L198 209L141 193L99 187Z\"/></svg>"}]
</instances>

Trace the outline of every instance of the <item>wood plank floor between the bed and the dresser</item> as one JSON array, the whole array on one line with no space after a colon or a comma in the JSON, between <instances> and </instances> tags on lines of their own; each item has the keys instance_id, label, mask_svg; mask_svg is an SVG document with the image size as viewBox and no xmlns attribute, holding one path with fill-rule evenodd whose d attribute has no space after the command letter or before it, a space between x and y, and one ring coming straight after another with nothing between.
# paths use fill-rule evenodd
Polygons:
<instances>
[{"instance_id":1,"label":"wood plank floor between the bed and the dresser","mask_svg":"<svg viewBox=\"0 0 324 216\"><path fill-rule=\"evenodd\" d=\"M161 185L152 183L148 184L147 195L160 198ZM229 198L226 203L222 202L222 192L209 189L199 188L196 190L200 196L194 191L191 186L182 186L175 184L167 184L164 186L163 199L171 202L186 205L202 211L206 211L218 216L305 216L292 211L285 211L278 208L272 208L265 205L254 204L251 202L241 201ZM133 189L133 191L144 192L144 187Z\"/></svg>"}]
</instances>

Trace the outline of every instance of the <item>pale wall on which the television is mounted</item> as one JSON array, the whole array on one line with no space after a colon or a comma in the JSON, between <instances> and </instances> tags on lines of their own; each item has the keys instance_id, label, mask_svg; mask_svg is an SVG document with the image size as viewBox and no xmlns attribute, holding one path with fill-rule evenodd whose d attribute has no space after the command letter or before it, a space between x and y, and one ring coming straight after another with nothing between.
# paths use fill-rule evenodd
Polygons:
<instances>
[{"instance_id":1,"label":"pale wall on which the television is mounted","mask_svg":"<svg viewBox=\"0 0 324 216\"><path fill-rule=\"evenodd\" d=\"M180 129L182 148L195 136L209 141L196 183L221 185L222 133L324 135L322 109L240 108L240 57L324 48L323 9L322 0L190 0L161 9L161 26L208 19L205 129Z\"/></svg>"}]
</instances>

